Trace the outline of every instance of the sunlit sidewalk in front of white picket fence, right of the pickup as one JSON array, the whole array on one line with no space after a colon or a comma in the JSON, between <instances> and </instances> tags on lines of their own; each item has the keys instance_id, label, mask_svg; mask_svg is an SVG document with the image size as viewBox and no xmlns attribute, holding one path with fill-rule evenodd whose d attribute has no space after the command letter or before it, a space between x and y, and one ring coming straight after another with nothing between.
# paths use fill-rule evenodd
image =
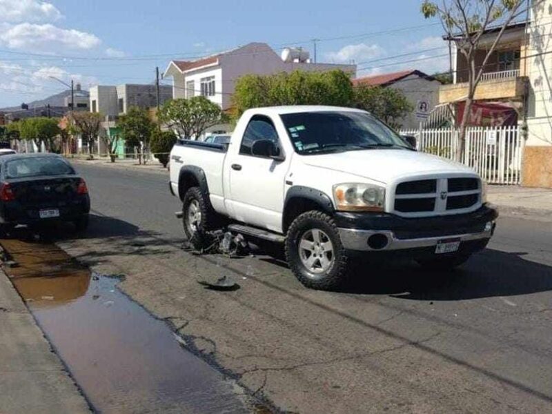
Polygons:
<instances>
[{"instance_id":1,"label":"sunlit sidewalk in front of white picket fence, right of the pickup","mask_svg":"<svg viewBox=\"0 0 552 414\"><path fill-rule=\"evenodd\" d=\"M552 221L552 189L521 186L489 186L487 199L500 214Z\"/></svg>"}]
</instances>

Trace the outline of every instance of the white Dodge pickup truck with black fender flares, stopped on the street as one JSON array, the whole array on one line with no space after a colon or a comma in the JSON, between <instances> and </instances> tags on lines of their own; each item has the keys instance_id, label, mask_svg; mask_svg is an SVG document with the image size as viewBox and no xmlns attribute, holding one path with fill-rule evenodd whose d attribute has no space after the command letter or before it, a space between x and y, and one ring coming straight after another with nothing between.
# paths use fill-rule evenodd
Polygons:
<instances>
[{"instance_id":1,"label":"white Dodge pickup truck with black fender flares, stopped on the street","mask_svg":"<svg viewBox=\"0 0 552 414\"><path fill-rule=\"evenodd\" d=\"M229 144L179 141L170 191L195 248L210 230L285 244L305 286L332 289L357 255L448 269L482 250L497 211L470 168L417 152L373 115L283 106L244 112Z\"/></svg>"}]
</instances>

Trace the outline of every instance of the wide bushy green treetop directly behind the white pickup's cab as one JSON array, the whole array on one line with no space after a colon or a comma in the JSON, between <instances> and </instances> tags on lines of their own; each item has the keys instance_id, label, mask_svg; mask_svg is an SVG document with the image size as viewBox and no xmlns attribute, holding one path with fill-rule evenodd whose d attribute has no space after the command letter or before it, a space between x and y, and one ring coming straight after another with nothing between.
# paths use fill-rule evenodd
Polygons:
<instances>
[{"instance_id":1,"label":"wide bushy green treetop directly behind the white pickup's cab","mask_svg":"<svg viewBox=\"0 0 552 414\"><path fill-rule=\"evenodd\" d=\"M282 72L245 75L237 80L233 95L235 115L249 108L277 105L335 105L353 103L351 79L342 70Z\"/></svg>"}]
</instances>

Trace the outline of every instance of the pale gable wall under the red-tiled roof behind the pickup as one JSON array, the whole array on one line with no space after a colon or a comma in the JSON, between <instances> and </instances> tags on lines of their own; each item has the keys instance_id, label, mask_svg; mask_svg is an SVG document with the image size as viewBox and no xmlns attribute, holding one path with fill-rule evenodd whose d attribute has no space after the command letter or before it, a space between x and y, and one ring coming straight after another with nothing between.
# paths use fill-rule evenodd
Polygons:
<instances>
[{"instance_id":1,"label":"pale gable wall under the red-tiled roof behind the pickup","mask_svg":"<svg viewBox=\"0 0 552 414\"><path fill-rule=\"evenodd\" d=\"M397 83L393 83L389 88L402 90L408 102L413 108L416 107L417 101L424 99L429 102L429 108L433 109L439 101L440 81L429 81L417 75L410 75L401 79ZM404 117L401 129L413 129L420 127L420 120L416 118L415 109L406 117Z\"/></svg>"}]
</instances>

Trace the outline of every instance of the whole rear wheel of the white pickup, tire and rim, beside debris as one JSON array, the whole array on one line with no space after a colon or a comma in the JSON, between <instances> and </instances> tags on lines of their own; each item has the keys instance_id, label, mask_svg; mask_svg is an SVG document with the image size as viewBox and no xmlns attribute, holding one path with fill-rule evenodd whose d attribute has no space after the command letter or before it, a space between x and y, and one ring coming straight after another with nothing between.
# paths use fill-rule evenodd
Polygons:
<instances>
[{"instance_id":1,"label":"whole rear wheel of the white pickup, tire and rim, beside debris","mask_svg":"<svg viewBox=\"0 0 552 414\"><path fill-rule=\"evenodd\" d=\"M208 248L213 237L208 234L213 230L215 213L209 201L199 187L188 188L182 200L182 224L188 242L197 250Z\"/></svg>"}]
</instances>

